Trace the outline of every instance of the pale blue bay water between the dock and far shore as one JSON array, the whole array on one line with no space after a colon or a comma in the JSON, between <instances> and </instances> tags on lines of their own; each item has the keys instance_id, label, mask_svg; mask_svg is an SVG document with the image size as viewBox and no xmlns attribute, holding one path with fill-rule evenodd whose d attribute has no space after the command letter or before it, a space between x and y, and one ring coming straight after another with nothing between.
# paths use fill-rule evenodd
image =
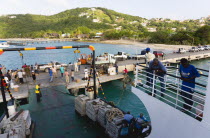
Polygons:
<instances>
[{"instance_id":1,"label":"pale blue bay water between the dock and far shore","mask_svg":"<svg viewBox=\"0 0 210 138\"><path fill-rule=\"evenodd\" d=\"M85 43L85 42L61 42L61 43L47 43L47 44L33 44L26 47L47 47L47 46L68 46L68 45L93 45L96 48L96 56L108 52L116 54L118 51L127 52L129 54L141 53L143 48L135 45L112 45L100 43ZM20 47L20 46L18 46ZM56 49L56 50L37 50L37 51L22 51L23 62L29 65L34 65L36 62L49 63L51 61L59 61L62 63L69 63L75 61L80 55L74 54L75 49ZM81 53L90 55L91 51L87 48L80 49ZM170 51L165 50L168 53ZM4 64L8 69L20 68L22 65L21 58L17 51L4 52L0 56L0 63Z\"/></svg>"}]
</instances>

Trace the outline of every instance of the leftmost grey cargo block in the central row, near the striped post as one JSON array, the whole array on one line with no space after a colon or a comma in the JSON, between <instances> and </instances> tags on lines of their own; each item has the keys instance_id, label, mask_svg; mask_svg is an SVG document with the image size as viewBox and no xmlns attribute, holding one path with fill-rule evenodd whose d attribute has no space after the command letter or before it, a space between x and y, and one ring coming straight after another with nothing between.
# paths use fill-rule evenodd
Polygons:
<instances>
[{"instance_id":1,"label":"leftmost grey cargo block in the central row, near the striped post","mask_svg":"<svg viewBox=\"0 0 210 138\"><path fill-rule=\"evenodd\" d=\"M75 110L81 116L84 116L86 114L86 102L89 100L89 97L83 94L75 98Z\"/></svg>"}]
</instances>

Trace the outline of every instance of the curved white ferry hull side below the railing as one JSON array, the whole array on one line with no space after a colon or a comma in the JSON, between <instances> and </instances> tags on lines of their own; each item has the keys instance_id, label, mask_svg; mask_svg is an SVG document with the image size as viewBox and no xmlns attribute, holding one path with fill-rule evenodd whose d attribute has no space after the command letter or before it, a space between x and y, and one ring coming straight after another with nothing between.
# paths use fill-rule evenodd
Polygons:
<instances>
[{"instance_id":1,"label":"curved white ferry hull side below the railing","mask_svg":"<svg viewBox=\"0 0 210 138\"><path fill-rule=\"evenodd\" d=\"M164 102L132 87L144 103L152 125L149 138L209 138L210 124L200 122Z\"/></svg>"}]
</instances>

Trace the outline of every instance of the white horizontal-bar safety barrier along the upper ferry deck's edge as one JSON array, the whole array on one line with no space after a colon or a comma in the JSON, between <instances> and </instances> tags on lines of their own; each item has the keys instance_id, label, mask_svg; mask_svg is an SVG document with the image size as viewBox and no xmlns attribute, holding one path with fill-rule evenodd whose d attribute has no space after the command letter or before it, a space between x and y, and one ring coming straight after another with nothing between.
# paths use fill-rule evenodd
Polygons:
<instances>
[{"instance_id":1,"label":"white horizontal-bar safety barrier along the upper ferry deck's edge","mask_svg":"<svg viewBox=\"0 0 210 138\"><path fill-rule=\"evenodd\" d=\"M136 87L154 98L160 99L178 110L187 112L187 114L198 120L202 120L206 92L205 83L208 79L207 75L201 75L201 77L196 78L196 87L192 89L182 84L178 68L176 67L166 67L167 74L164 76L156 75L154 72L149 71L147 67L145 68L136 69ZM202 84L198 82L202 82ZM181 87L183 86L192 89L193 93L182 90ZM193 104L186 103L186 100L188 100L188 103L192 102ZM188 110L183 105L191 109Z\"/></svg>"}]
</instances>

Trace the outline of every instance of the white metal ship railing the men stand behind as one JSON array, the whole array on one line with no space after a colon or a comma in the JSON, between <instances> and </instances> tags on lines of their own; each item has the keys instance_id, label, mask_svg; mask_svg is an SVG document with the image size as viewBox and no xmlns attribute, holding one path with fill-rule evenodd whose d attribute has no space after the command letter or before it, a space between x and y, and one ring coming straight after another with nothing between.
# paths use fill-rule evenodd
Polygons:
<instances>
[{"instance_id":1,"label":"white metal ship railing the men stand behind","mask_svg":"<svg viewBox=\"0 0 210 138\"><path fill-rule=\"evenodd\" d=\"M144 70L144 69L137 69L136 71L137 72L136 72L135 85L137 87L141 87L142 89L146 91L146 93L151 94L152 96L155 96L161 101L168 102L170 105L172 105L176 109L181 109L195 118L202 119L203 107L205 104L206 85L195 83L196 87L199 86L199 88L194 89L194 93L189 93L187 91L182 90L181 86L184 86L190 89L192 88L183 85L182 81L180 80L180 77L177 77L171 74L166 74L164 77L161 77L161 76L156 75L155 73L149 72L148 70ZM164 79L164 81L161 82L158 79L158 77L161 79ZM148 81L147 79L150 79L150 81ZM171 85L172 82L173 82L173 85ZM162 83L162 86L158 85L157 83L160 83L160 84ZM167 87L168 85L170 85L170 87ZM159 89L165 90L165 92L162 92ZM164 94L164 96L160 96L158 95L158 93ZM184 93L191 95L192 99L184 96L183 95ZM193 105L185 103L184 100L182 100L183 98L189 101L192 101ZM191 110L185 109L181 104L182 105L185 104L189 106ZM199 106L196 106L196 105L199 105Z\"/></svg>"}]
</instances>

